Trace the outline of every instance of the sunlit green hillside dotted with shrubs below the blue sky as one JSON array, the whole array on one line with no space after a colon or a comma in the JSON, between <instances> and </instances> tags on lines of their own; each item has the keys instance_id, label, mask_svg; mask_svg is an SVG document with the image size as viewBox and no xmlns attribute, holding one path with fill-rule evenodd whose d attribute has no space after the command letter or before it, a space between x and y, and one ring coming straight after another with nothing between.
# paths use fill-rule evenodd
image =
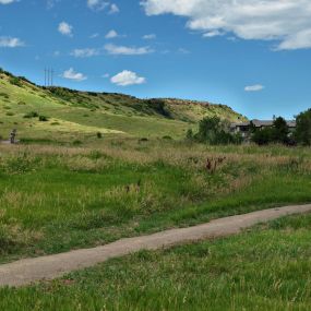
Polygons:
<instances>
[{"instance_id":1,"label":"sunlit green hillside dotted with shrubs below the blue sky","mask_svg":"<svg viewBox=\"0 0 311 311\"><path fill-rule=\"evenodd\" d=\"M123 94L40 87L0 71L0 135L59 140L80 135L182 137L205 116L237 122L244 118L224 105L180 99L139 99Z\"/></svg>"}]
</instances>

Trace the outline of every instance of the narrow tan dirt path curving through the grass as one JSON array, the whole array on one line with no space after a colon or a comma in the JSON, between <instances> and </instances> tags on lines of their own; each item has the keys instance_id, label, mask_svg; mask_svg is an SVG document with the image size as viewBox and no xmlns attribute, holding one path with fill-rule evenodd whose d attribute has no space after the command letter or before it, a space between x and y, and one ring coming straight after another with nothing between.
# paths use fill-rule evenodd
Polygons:
<instances>
[{"instance_id":1,"label":"narrow tan dirt path curving through the grass","mask_svg":"<svg viewBox=\"0 0 311 311\"><path fill-rule=\"evenodd\" d=\"M140 250L156 250L178 243L235 235L241 229L283 216L311 212L311 204L253 212L213 220L207 224L122 239L93 249L20 260L0 265L0 286L23 286L41 279L52 279L65 273L93 266L111 258Z\"/></svg>"}]
</instances>

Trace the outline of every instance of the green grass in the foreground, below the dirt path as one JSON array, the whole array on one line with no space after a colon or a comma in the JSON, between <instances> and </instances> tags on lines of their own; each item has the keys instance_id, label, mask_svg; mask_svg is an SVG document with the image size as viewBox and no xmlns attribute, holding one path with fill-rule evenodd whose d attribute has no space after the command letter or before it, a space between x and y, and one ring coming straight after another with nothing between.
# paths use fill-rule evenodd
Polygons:
<instances>
[{"instance_id":1,"label":"green grass in the foreground, below the dirt path","mask_svg":"<svg viewBox=\"0 0 311 311\"><path fill-rule=\"evenodd\" d=\"M22 289L1 310L310 310L311 216L140 252Z\"/></svg>"}]
</instances>

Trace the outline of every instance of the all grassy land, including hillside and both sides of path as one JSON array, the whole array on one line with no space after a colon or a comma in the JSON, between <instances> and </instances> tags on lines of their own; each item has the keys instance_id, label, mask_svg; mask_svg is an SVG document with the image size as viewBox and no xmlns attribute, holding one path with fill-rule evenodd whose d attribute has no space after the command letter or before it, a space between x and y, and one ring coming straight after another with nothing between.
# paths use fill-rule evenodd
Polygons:
<instances>
[{"instance_id":1,"label":"all grassy land, including hillside and both sides of path","mask_svg":"<svg viewBox=\"0 0 311 311\"><path fill-rule=\"evenodd\" d=\"M205 116L244 120L227 106L0 77L0 135L20 140L0 144L0 263L311 202L310 147L184 139ZM310 220L3 288L0 310L310 310Z\"/></svg>"}]
</instances>

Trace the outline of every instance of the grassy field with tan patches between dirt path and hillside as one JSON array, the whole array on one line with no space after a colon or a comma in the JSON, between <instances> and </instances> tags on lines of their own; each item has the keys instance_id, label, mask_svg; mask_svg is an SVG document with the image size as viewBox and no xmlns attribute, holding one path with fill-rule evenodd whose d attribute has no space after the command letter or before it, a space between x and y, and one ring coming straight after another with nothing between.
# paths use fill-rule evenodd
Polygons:
<instances>
[{"instance_id":1,"label":"grassy field with tan patches between dirt path and hillside","mask_svg":"<svg viewBox=\"0 0 311 311\"><path fill-rule=\"evenodd\" d=\"M100 142L0 147L0 261L311 201L310 148Z\"/></svg>"}]
</instances>

